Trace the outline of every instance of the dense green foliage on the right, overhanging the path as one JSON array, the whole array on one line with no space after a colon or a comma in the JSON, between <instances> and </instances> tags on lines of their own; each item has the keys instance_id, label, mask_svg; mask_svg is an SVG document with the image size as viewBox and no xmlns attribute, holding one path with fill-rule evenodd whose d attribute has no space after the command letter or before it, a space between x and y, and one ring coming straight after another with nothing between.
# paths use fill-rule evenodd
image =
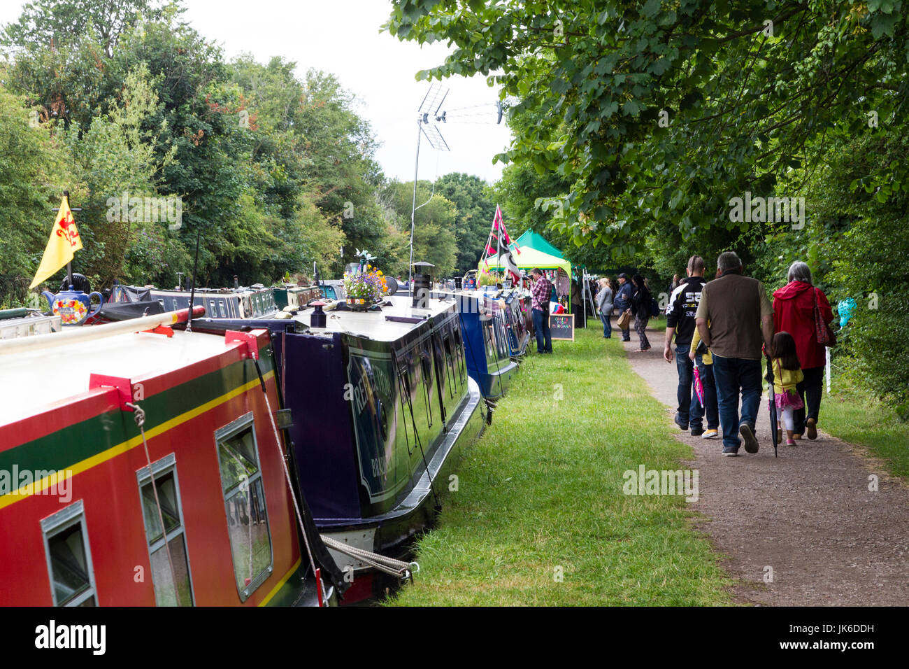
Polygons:
<instances>
[{"instance_id":1,"label":"dense green foliage on the right, overhanging the path","mask_svg":"<svg viewBox=\"0 0 909 669\"><path fill-rule=\"evenodd\" d=\"M859 304L837 364L906 415L906 10L397 0L386 29L454 45L418 77L480 73L503 86L515 137L496 187L506 212L548 228L575 262L631 263L661 281L684 276L694 253L709 267L734 249L775 288L807 260L834 302ZM736 215L735 198L752 196L804 198L803 215Z\"/></svg>"}]
</instances>

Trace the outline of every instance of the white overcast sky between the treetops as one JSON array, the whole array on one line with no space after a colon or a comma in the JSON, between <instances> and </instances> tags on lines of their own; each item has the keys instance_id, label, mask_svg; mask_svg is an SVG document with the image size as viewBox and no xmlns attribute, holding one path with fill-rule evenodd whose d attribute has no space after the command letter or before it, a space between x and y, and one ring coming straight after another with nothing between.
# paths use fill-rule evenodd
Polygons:
<instances>
[{"instance_id":1,"label":"white overcast sky between the treetops","mask_svg":"<svg viewBox=\"0 0 909 669\"><path fill-rule=\"evenodd\" d=\"M355 94L357 112L369 120L382 143L377 158L385 174L402 181L413 179L416 108L429 87L425 81L417 82L415 74L445 61L450 50L444 43L421 47L380 32L391 13L387 0L184 0L183 4L185 20L222 46L228 59L243 52L252 53L261 63L285 56L297 64L298 76L310 67L335 74ZM23 0L0 0L0 24L15 20L23 5ZM504 120L495 125L495 89L486 86L483 76L452 78L445 86L451 90L442 108L451 121L440 124L440 129L451 151L436 152L424 139L419 177L466 172L489 182L498 179L503 166L493 165L493 157L507 147L511 135ZM477 113L484 116L473 116Z\"/></svg>"}]
</instances>

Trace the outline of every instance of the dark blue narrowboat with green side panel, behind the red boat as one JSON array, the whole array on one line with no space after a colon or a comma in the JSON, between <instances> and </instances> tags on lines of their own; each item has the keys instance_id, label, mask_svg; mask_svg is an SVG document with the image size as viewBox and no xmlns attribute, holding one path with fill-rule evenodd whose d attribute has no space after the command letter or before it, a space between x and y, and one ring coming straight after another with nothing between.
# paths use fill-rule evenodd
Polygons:
<instances>
[{"instance_id":1,"label":"dark blue narrowboat with green side panel, behind the red boat","mask_svg":"<svg viewBox=\"0 0 909 669\"><path fill-rule=\"evenodd\" d=\"M460 451L484 426L454 300L411 303L395 296L368 311L305 309L290 321L193 321L195 330L271 330L316 525L326 537L395 557L433 524ZM356 576L352 591L370 596L370 579L361 578L370 565L333 554Z\"/></svg>"}]
</instances>

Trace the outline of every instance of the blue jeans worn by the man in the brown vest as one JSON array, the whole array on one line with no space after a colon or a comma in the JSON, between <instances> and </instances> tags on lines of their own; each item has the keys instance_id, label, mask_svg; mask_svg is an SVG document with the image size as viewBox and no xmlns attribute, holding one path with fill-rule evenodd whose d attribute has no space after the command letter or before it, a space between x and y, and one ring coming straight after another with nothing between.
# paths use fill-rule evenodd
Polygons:
<instances>
[{"instance_id":1,"label":"blue jeans worn by the man in the brown vest","mask_svg":"<svg viewBox=\"0 0 909 669\"><path fill-rule=\"evenodd\" d=\"M714 353L714 380L723 426L723 448L738 451L742 445L738 428L748 423L754 429L757 408L761 403L761 360L722 358ZM742 395L742 416L739 418L739 393Z\"/></svg>"}]
</instances>

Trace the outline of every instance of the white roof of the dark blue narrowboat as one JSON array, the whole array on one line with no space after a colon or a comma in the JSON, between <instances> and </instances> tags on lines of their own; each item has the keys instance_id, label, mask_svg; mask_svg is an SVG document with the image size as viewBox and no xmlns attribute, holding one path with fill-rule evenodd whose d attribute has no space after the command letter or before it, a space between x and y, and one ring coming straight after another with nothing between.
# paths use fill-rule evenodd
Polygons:
<instances>
[{"instance_id":1,"label":"white roof of the dark blue narrowboat","mask_svg":"<svg viewBox=\"0 0 909 669\"><path fill-rule=\"evenodd\" d=\"M391 306L384 306L382 311L325 311L325 328L310 328L314 334L328 332L346 332L371 340L395 341L408 332L419 327L420 323L407 323L385 319L385 316L425 319L433 318L445 311L454 310L454 299L430 299L429 309L414 309L413 298L392 296L385 298ZM309 326L313 309L300 311L295 320Z\"/></svg>"}]
</instances>

